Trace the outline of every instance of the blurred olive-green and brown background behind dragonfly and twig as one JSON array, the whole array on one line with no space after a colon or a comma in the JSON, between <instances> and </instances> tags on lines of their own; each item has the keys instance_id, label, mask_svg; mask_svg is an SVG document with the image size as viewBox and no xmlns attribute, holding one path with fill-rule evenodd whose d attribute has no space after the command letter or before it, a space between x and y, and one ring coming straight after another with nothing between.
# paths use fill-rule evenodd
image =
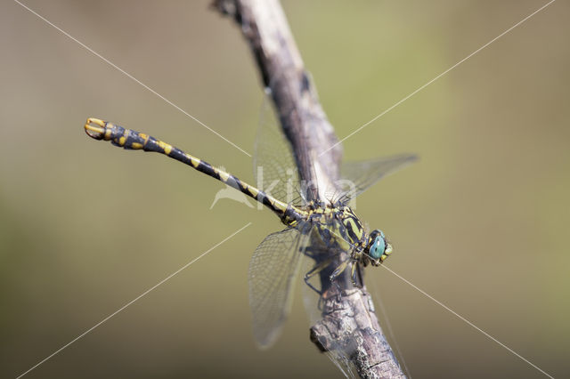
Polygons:
<instances>
[{"instance_id":1,"label":"blurred olive-green and brown background behind dragonfly and twig","mask_svg":"<svg viewBox=\"0 0 570 379\"><path fill-rule=\"evenodd\" d=\"M253 150L256 67L207 1L25 4ZM283 7L342 138L542 4ZM281 228L273 214L229 200L210 210L223 185L92 141L83 125L151 133L245 181L251 159L19 4L0 7L0 376L253 222L27 377L341 377L309 342L298 295L273 349L253 343L248 260ZM344 144L349 159L421 157L358 199L394 242L388 267L556 377L570 375L569 16L551 4ZM387 270L367 272L412 376L542 377Z\"/></svg>"}]
</instances>

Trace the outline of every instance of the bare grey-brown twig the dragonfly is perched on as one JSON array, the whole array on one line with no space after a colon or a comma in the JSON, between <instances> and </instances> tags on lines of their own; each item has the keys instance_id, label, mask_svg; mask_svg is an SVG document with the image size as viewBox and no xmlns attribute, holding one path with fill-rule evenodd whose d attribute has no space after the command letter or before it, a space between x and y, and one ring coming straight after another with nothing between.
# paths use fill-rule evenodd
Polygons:
<instances>
[{"instance_id":1,"label":"bare grey-brown twig the dragonfly is perched on","mask_svg":"<svg viewBox=\"0 0 570 379\"><path fill-rule=\"evenodd\" d=\"M265 86L271 87L281 127L289 139L300 179L313 183L313 198L334 188L342 151L318 101L310 76L278 0L216 0L216 10L238 23L256 59ZM342 259L342 258L339 258ZM349 271L349 270L346 270ZM363 378L405 377L379 327L366 287L354 287L346 275L330 286L321 275L322 319L311 328L311 340ZM362 275L361 275L362 277Z\"/></svg>"}]
</instances>

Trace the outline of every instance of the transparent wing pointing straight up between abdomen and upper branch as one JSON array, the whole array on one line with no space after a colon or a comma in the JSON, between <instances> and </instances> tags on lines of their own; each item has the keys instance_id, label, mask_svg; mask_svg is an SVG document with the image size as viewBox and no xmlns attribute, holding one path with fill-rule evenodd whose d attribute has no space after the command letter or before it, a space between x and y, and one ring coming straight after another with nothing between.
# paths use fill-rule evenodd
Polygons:
<instances>
[{"instance_id":1,"label":"transparent wing pointing straight up between abdomen and upper branch","mask_svg":"<svg viewBox=\"0 0 570 379\"><path fill-rule=\"evenodd\" d=\"M272 104L269 93L265 93L253 159L254 178L259 189L285 203L300 206L303 198L299 193L297 166Z\"/></svg>"}]
</instances>

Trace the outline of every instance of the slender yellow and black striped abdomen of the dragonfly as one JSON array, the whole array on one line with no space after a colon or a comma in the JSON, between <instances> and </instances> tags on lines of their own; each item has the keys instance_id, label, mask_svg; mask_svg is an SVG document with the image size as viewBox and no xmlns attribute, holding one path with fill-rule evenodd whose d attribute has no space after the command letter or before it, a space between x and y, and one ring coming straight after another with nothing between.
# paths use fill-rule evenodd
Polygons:
<instances>
[{"instance_id":1,"label":"slender yellow and black striped abdomen of the dragonfly","mask_svg":"<svg viewBox=\"0 0 570 379\"><path fill-rule=\"evenodd\" d=\"M240 181L240 179L231 173L226 173L223 170L213 167L208 164L208 162L197 157L192 157L190 154L183 152L183 150L177 149L151 135L126 129L98 118L87 118L85 133L95 140L110 141L113 145L123 149L142 149L143 151L157 152L174 158L185 165L190 165L200 173L206 173L218 181L222 181L228 186L238 189L240 192L248 195L248 197L254 198L256 201L271 209L281 218L282 222L288 225L294 224L294 222L302 218L302 212L297 208L289 206L267 195L264 191L256 189L244 181Z\"/></svg>"}]
</instances>

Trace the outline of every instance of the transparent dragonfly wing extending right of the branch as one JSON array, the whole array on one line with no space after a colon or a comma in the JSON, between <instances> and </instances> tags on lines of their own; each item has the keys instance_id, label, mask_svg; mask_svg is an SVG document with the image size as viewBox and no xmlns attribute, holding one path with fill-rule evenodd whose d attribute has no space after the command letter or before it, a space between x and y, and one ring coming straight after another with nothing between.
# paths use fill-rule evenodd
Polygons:
<instances>
[{"instance_id":1,"label":"transparent dragonfly wing extending right of the branch","mask_svg":"<svg viewBox=\"0 0 570 379\"><path fill-rule=\"evenodd\" d=\"M339 200L348 203L352 198L356 198L372 184L376 183L384 176L402 169L406 165L418 160L412 154L402 154L392 157L381 157L359 162L345 162L340 166L340 176L343 182L339 183L342 195Z\"/></svg>"}]
</instances>

